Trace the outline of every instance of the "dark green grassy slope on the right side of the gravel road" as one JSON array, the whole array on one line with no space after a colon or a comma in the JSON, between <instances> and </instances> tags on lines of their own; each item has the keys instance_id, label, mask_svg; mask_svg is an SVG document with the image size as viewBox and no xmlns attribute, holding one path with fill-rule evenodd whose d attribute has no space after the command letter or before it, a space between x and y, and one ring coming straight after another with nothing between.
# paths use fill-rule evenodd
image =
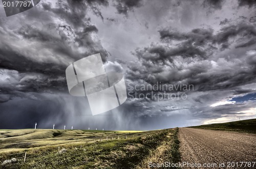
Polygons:
<instances>
[{"instance_id":1,"label":"dark green grassy slope on the right side of the gravel road","mask_svg":"<svg viewBox=\"0 0 256 169\"><path fill-rule=\"evenodd\" d=\"M225 130L256 134L256 119L241 120L228 123L208 124L192 126L191 128L202 128L210 130Z\"/></svg>"}]
</instances>

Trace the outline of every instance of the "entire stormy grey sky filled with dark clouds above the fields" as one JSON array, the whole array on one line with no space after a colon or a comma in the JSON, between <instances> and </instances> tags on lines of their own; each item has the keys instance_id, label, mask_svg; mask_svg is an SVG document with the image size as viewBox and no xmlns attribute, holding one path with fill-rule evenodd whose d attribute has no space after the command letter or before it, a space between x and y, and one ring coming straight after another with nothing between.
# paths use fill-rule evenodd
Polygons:
<instances>
[{"instance_id":1,"label":"entire stormy grey sky filled with dark clouds above the fields","mask_svg":"<svg viewBox=\"0 0 256 169\"><path fill-rule=\"evenodd\" d=\"M2 2L0 5L2 7ZM0 8L0 128L154 130L256 118L256 3L42 0ZM92 116L65 70L100 53L127 100Z\"/></svg>"}]
</instances>

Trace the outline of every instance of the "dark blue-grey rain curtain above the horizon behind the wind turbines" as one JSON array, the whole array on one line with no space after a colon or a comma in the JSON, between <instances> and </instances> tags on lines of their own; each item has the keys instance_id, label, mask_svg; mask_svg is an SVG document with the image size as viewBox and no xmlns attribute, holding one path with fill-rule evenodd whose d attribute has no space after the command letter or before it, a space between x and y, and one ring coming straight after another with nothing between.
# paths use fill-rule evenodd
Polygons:
<instances>
[{"instance_id":1,"label":"dark blue-grey rain curtain above the horizon behind the wind turbines","mask_svg":"<svg viewBox=\"0 0 256 169\"><path fill-rule=\"evenodd\" d=\"M0 128L33 128L37 122L37 128L51 129L55 124L55 129L98 129L102 130L148 130L161 129L162 120L165 117L157 117L158 120L150 120L146 117L138 118L139 109L132 104L121 105L115 111L105 112L104 115L91 116L89 105L86 100L80 98L72 98L68 95L60 96L43 96L42 100L18 99L10 101L10 104L1 104L0 119L2 123ZM50 97L50 98L49 98ZM68 100L68 102L67 102ZM139 108L139 107L138 107ZM131 111L130 114L123 110ZM138 111L137 111L138 110ZM74 118L75 117L75 118ZM5 120L3 120L5 119ZM168 118L168 122L177 123L178 118ZM176 126L178 124L175 124ZM175 127L174 124L169 127Z\"/></svg>"}]
</instances>

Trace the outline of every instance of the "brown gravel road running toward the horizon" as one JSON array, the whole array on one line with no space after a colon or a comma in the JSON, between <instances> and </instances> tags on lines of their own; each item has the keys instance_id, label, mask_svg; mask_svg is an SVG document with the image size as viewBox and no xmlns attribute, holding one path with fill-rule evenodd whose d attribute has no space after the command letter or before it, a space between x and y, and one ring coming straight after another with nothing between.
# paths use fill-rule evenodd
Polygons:
<instances>
[{"instance_id":1,"label":"brown gravel road running toward the horizon","mask_svg":"<svg viewBox=\"0 0 256 169\"><path fill-rule=\"evenodd\" d=\"M255 134L179 128L179 140L182 168L256 168Z\"/></svg>"}]
</instances>

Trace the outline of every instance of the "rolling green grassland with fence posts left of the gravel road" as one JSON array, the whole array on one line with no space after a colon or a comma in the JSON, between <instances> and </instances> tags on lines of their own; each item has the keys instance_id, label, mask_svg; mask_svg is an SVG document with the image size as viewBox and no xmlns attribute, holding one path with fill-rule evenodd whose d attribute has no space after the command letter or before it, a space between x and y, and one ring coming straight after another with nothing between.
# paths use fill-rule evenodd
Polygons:
<instances>
[{"instance_id":1,"label":"rolling green grassland with fence posts left of the gravel road","mask_svg":"<svg viewBox=\"0 0 256 169\"><path fill-rule=\"evenodd\" d=\"M178 129L3 130L0 131L0 168L137 168L165 144L166 160L179 161L177 133ZM12 158L16 161L2 164Z\"/></svg>"}]
</instances>

